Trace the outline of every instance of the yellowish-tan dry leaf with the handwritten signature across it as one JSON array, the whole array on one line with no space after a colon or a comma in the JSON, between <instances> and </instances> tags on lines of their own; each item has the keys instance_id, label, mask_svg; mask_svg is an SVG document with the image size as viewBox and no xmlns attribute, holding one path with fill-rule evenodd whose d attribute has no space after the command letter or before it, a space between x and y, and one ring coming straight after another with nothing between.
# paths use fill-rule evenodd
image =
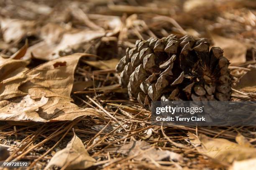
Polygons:
<instances>
[{"instance_id":1,"label":"yellowish-tan dry leaf with the handwritten signature across it","mask_svg":"<svg viewBox=\"0 0 256 170\"><path fill-rule=\"evenodd\" d=\"M200 141L202 146L196 147L198 153L225 163L232 163L234 160L245 160L256 157L255 148L241 146L226 139L210 138L201 134ZM191 142L193 143L193 141Z\"/></svg>"}]
</instances>

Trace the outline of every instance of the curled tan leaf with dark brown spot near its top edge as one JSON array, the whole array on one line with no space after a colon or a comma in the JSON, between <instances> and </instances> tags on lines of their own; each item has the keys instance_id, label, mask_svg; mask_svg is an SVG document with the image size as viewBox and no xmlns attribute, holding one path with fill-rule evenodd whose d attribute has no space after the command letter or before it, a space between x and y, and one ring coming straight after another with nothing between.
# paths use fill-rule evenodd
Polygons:
<instances>
[{"instance_id":1,"label":"curled tan leaf with dark brown spot near its top edge","mask_svg":"<svg viewBox=\"0 0 256 170\"><path fill-rule=\"evenodd\" d=\"M87 54L73 54L46 62L29 70L26 75L40 73L35 79L23 84L20 90L31 95L33 99L42 96L49 97L42 106L39 115L46 120L74 120L82 115L95 115L91 108L81 109L74 103L70 93L74 82L74 70L80 57L90 57Z\"/></svg>"}]
</instances>

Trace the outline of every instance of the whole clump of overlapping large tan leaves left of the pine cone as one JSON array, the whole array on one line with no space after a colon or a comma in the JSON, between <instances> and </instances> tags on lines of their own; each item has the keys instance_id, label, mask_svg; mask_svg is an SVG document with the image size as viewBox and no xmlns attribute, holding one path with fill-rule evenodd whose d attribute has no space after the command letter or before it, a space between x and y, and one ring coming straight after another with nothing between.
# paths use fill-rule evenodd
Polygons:
<instances>
[{"instance_id":1,"label":"whole clump of overlapping large tan leaves left of the pine cone","mask_svg":"<svg viewBox=\"0 0 256 170\"><path fill-rule=\"evenodd\" d=\"M2 57L0 120L47 122L97 115L95 109L79 108L70 97L74 71L81 57L95 56L76 53L31 70L26 68L26 60Z\"/></svg>"}]
</instances>

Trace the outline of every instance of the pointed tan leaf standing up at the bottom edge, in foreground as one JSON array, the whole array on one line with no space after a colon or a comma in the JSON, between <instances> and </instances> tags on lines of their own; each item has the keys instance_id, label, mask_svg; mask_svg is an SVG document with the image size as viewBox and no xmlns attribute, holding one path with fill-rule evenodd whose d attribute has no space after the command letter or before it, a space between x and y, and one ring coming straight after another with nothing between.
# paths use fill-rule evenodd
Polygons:
<instances>
[{"instance_id":1,"label":"pointed tan leaf standing up at the bottom edge, in foreground","mask_svg":"<svg viewBox=\"0 0 256 170\"><path fill-rule=\"evenodd\" d=\"M65 167L65 170L86 169L95 163L96 160L87 153L82 140L74 134L72 140L67 144L67 147L57 152L50 160L45 170L52 165L57 167Z\"/></svg>"}]
</instances>

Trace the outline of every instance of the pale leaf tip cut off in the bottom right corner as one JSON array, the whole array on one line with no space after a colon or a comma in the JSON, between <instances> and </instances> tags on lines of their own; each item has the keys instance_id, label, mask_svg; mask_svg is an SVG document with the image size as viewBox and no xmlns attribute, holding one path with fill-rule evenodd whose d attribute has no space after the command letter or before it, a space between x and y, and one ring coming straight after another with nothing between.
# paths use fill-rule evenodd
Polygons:
<instances>
[{"instance_id":1,"label":"pale leaf tip cut off in the bottom right corner","mask_svg":"<svg viewBox=\"0 0 256 170\"><path fill-rule=\"evenodd\" d=\"M234 161L232 167L229 170L256 170L256 158Z\"/></svg>"}]
</instances>

